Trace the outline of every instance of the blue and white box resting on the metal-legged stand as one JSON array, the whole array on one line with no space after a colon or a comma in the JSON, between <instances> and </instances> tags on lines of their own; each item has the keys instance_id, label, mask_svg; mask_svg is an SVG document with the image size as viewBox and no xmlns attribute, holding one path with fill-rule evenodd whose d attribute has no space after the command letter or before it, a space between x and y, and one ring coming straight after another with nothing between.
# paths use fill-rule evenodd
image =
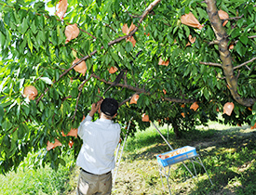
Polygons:
<instances>
[{"instance_id":1,"label":"blue and white box resting on the metal-legged stand","mask_svg":"<svg viewBox=\"0 0 256 195\"><path fill-rule=\"evenodd\" d=\"M195 147L185 146L180 149L167 151L156 156L157 162L162 166L179 163L197 155Z\"/></svg>"}]
</instances>

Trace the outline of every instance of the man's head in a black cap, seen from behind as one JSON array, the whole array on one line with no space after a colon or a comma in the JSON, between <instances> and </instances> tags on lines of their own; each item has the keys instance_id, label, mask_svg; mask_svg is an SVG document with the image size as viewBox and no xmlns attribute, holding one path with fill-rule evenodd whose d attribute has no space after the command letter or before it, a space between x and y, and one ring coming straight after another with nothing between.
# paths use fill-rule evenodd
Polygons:
<instances>
[{"instance_id":1,"label":"man's head in a black cap, seen from behind","mask_svg":"<svg viewBox=\"0 0 256 195\"><path fill-rule=\"evenodd\" d=\"M104 98L101 102L101 112L112 119L118 110L118 102L115 98Z\"/></svg>"}]
</instances>

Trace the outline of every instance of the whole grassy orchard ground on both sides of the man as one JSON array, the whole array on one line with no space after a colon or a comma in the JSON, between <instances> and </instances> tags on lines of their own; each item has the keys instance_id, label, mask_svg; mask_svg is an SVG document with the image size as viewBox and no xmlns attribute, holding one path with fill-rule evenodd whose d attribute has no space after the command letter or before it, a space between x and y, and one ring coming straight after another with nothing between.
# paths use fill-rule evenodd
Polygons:
<instances>
[{"instance_id":1,"label":"whole grassy orchard ground on both sides of the man","mask_svg":"<svg viewBox=\"0 0 256 195\"><path fill-rule=\"evenodd\" d=\"M213 182L199 164L195 164L198 180L192 178L182 163L170 166L172 194L256 194L256 130L248 126L231 127L209 123L175 139L167 127L161 128L174 149L195 147ZM168 151L168 145L151 127L128 137L113 189L114 195L168 194L167 180L159 176L155 156ZM184 162L192 171L193 165ZM0 194L75 194L78 167L70 163L58 172L49 167L34 171L25 169L0 176ZM74 167L74 168L72 168ZM71 176L70 176L71 174Z\"/></svg>"}]
</instances>

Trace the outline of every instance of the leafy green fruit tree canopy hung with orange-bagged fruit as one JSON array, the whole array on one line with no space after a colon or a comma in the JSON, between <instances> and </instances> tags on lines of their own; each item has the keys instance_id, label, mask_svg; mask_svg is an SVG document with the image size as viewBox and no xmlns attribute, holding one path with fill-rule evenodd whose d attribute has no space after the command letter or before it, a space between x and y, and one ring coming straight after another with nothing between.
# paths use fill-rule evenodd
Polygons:
<instances>
[{"instance_id":1,"label":"leafy green fruit tree canopy hung with orange-bagged fruit","mask_svg":"<svg viewBox=\"0 0 256 195\"><path fill-rule=\"evenodd\" d=\"M102 97L119 102L119 123L171 123L176 136L219 112L224 123L256 122L252 0L20 0L0 10L3 172L32 150L54 168L76 154L77 127Z\"/></svg>"}]
</instances>

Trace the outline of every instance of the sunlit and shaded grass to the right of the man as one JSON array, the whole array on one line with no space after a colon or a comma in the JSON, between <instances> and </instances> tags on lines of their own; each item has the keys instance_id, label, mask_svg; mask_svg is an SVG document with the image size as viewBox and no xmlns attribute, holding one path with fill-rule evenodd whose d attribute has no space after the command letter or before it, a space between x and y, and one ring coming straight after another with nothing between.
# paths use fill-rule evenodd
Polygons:
<instances>
[{"instance_id":1,"label":"sunlit and shaded grass to the right of the man","mask_svg":"<svg viewBox=\"0 0 256 195\"><path fill-rule=\"evenodd\" d=\"M167 128L161 132L167 137ZM209 127L198 127L187 132L182 139L169 134L172 148L195 147L200 154L209 176L202 166L195 164L198 174L191 178L182 163L170 166L172 194L256 194L256 131L246 127L231 127L210 123ZM135 138L128 138L123 162L118 169L113 194L168 194L164 178L162 188L155 156L170 150L157 134L154 127L138 132ZM190 170L192 163L184 162Z\"/></svg>"}]
</instances>

